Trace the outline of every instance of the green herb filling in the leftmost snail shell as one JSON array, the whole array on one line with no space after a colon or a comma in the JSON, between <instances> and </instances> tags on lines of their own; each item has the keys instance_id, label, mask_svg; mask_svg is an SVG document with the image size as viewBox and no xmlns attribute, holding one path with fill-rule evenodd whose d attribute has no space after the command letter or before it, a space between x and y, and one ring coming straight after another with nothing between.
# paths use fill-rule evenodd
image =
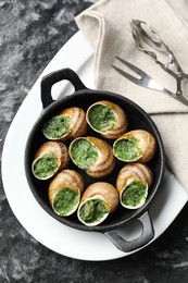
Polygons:
<instances>
[{"instance_id":1,"label":"green herb filling in the leftmost snail shell","mask_svg":"<svg viewBox=\"0 0 188 283\"><path fill-rule=\"evenodd\" d=\"M33 172L38 179L48 179L58 170L58 158L54 155L46 153L33 163Z\"/></svg>"}]
</instances>

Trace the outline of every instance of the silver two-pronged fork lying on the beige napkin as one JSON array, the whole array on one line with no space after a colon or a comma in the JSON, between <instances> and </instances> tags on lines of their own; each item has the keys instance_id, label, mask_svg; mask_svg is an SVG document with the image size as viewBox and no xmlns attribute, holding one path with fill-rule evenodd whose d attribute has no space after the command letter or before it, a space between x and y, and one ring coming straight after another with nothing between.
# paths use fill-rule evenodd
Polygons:
<instances>
[{"instance_id":1,"label":"silver two-pronged fork lying on the beige napkin","mask_svg":"<svg viewBox=\"0 0 188 283\"><path fill-rule=\"evenodd\" d=\"M177 93L175 94L175 93L171 91L170 89L163 87L162 85L160 85L156 81L154 81L150 75L148 75L146 72L143 72L139 67L133 65L131 63L127 62L126 60L124 60L120 57L115 57L115 58L140 76L139 78L135 77L135 76L128 74L127 72L123 71L122 69L120 69L115 65L112 65L116 72L118 72L124 77L128 78L130 82L133 82L139 86L142 86L142 87L151 88L151 89L167 94L167 95L174 97L175 99L177 99L178 101L183 102L184 104L188 106L188 100L183 95L177 96Z\"/></svg>"}]
</instances>

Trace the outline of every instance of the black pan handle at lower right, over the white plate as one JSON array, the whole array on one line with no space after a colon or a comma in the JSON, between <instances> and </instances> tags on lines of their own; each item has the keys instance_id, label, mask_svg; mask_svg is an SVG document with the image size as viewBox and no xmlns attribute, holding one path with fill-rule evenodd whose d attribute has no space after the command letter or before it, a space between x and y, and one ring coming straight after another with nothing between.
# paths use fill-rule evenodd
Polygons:
<instances>
[{"instance_id":1,"label":"black pan handle at lower right, over the white plate","mask_svg":"<svg viewBox=\"0 0 188 283\"><path fill-rule=\"evenodd\" d=\"M104 233L104 235L106 235L111 239L111 242L124 253L138 249L148 244L154 237L154 230L149 212L146 211L141 217L138 218L138 220L142 224L142 233L137 238L126 241L117 234L116 230L108 231Z\"/></svg>"}]
</instances>

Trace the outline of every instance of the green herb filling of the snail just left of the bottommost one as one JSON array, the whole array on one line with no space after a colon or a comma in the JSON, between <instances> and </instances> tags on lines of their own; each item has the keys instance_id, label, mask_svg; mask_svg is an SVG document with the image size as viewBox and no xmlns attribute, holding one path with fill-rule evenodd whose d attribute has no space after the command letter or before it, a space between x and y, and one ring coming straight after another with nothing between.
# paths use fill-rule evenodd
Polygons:
<instances>
[{"instance_id":1,"label":"green herb filling of the snail just left of the bottommost one","mask_svg":"<svg viewBox=\"0 0 188 283\"><path fill-rule=\"evenodd\" d=\"M79 193L68 187L60 188L53 199L53 210L59 216L70 216L77 208L79 197Z\"/></svg>"}]
</instances>

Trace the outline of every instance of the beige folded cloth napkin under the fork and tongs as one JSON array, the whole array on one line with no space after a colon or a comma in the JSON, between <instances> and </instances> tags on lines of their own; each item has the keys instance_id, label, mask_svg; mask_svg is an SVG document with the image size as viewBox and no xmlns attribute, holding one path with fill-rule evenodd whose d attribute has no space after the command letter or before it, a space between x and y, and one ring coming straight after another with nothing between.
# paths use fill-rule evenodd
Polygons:
<instances>
[{"instance_id":1,"label":"beige folded cloth napkin under the fork and tongs","mask_svg":"<svg viewBox=\"0 0 188 283\"><path fill-rule=\"evenodd\" d=\"M75 21L93 48L96 88L118 93L152 116L162 135L168 165L188 193L188 107L168 95L133 84L112 67L112 64L125 67L115 59L118 56L164 87L176 90L175 79L135 47L129 24L138 19L154 27L188 72L188 17L177 13L174 4L175 0L100 0ZM178 12L187 9L185 4L184 0L178 1Z\"/></svg>"}]
</instances>

